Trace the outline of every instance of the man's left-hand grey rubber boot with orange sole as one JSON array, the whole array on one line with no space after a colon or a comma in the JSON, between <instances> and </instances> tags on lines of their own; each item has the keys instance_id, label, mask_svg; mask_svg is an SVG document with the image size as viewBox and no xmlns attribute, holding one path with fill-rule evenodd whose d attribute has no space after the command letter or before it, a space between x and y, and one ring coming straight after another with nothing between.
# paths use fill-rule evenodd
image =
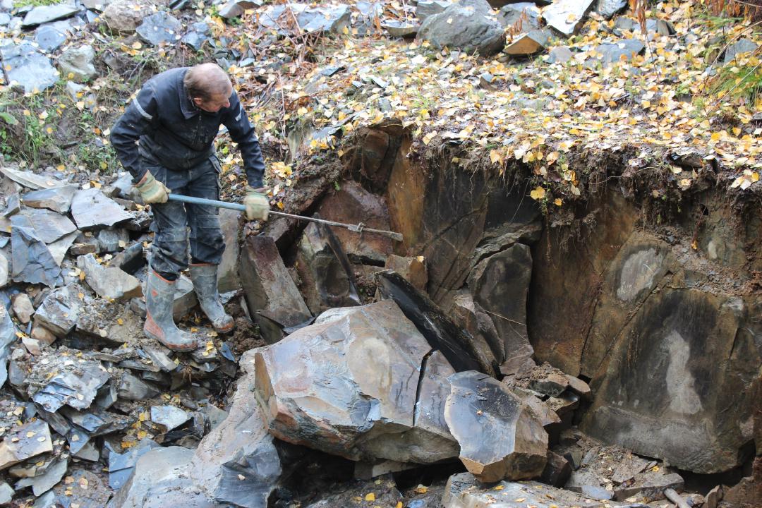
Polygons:
<instances>
[{"instance_id":1,"label":"man's left-hand grey rubber boot with orange sole","mask_svg":"<svg viewBox=\"0 0 762 508\"><path fill-rule=\"evenodd\" d=\"M146 284L146 324L143 324L143 333L173 351L196 350L198 340L174 324L173 304L174 281L166 280L155 271L149 270Z\"/></svg>"}]
</instances>

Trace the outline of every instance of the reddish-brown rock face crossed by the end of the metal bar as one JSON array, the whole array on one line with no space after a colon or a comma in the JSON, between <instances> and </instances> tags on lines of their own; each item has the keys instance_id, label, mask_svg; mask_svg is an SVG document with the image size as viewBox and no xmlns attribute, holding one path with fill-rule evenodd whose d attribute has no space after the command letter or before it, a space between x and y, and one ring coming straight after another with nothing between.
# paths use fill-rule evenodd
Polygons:
<instances>
[{"instance_id":1,"label":"reddish-brown rock face crossed by the end of the metal bar","mask_svg":"<svg viewBox=\"0 0 762 508\"><path fill-rule=\"evenodd\" d=\"M368 228L389 230L389 210L383 197L368 192L353 181L343 181L338 190L329 192L320 203L318 213L321 219L347 224L362 222ZM353 263L383 264L392 254L392 239L386 236L358 235L346 228L331 231Z\"/></svg>"}]
</instances>

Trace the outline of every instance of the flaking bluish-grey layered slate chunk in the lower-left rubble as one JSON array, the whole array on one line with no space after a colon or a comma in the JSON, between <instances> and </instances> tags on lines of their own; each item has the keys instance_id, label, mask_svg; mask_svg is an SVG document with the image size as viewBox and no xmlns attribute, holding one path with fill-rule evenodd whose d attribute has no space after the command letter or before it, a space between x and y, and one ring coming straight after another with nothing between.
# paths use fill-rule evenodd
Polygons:
<instances>
[{"instance_id":1,"label":"flaking bluish-grey layered slate chunk in the lower-left rubble","mask_svg":"<svg viewBox=\"0 0 762 508\"><path fill-rule=\"evenodd\" d=\"M64 404L76 410L87 409L98 395L98 388L110 379L100 363L78 363L72 370L53 376L32 400L50 413L55 413Z\"/></svg>"}]
</instances>

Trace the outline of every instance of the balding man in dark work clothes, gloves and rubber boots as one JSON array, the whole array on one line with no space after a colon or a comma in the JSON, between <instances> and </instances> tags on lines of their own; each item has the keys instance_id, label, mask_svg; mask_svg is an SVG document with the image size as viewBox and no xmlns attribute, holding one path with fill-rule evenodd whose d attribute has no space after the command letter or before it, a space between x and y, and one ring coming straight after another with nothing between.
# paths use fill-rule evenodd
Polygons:
<instances>
[{"instance_id":1,"label":"balding man in dark work clothes, gloves and rubber boots","mask_svg":"<svg viewBox=\"0 0 762 508\"><path fill-rule=\"evenodd\" d=\"M174 284L188 267L187 228L191 280L201 309L216 331L233 327L217 292L217 266L225 250L218 209L168 202L172 192L219 199L220 165L213 141L220 125L227 127L243 156L246 216L266 220L269 203L255 190L262 187L264 173L259 142L230 78L218 65L204 63L154 76L111 129L111 144L154 216L143 331L175 351L197 348L197 340L172 318Z\"/></svg>"}]
</instances>

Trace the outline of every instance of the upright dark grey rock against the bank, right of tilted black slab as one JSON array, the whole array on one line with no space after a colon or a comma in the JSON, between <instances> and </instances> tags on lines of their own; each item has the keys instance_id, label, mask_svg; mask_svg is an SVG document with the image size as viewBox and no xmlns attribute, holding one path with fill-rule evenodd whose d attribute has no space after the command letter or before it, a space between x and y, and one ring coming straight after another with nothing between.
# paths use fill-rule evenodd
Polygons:
<instances>
[{"instance_id":1,"label":"upright dark grey rock against the bank, right of tilted black slab","mask_svg":"<svg viewBox=\"0 0 762 508\"><path fill-rule=\"evenodd\" d=\"M503 350L495 353L500 361L534 353L527 337L531 277L532 254L523 244L482 260L469 275L473 300L489 315L503 343Z\"/></svg>"}]
</instances>

